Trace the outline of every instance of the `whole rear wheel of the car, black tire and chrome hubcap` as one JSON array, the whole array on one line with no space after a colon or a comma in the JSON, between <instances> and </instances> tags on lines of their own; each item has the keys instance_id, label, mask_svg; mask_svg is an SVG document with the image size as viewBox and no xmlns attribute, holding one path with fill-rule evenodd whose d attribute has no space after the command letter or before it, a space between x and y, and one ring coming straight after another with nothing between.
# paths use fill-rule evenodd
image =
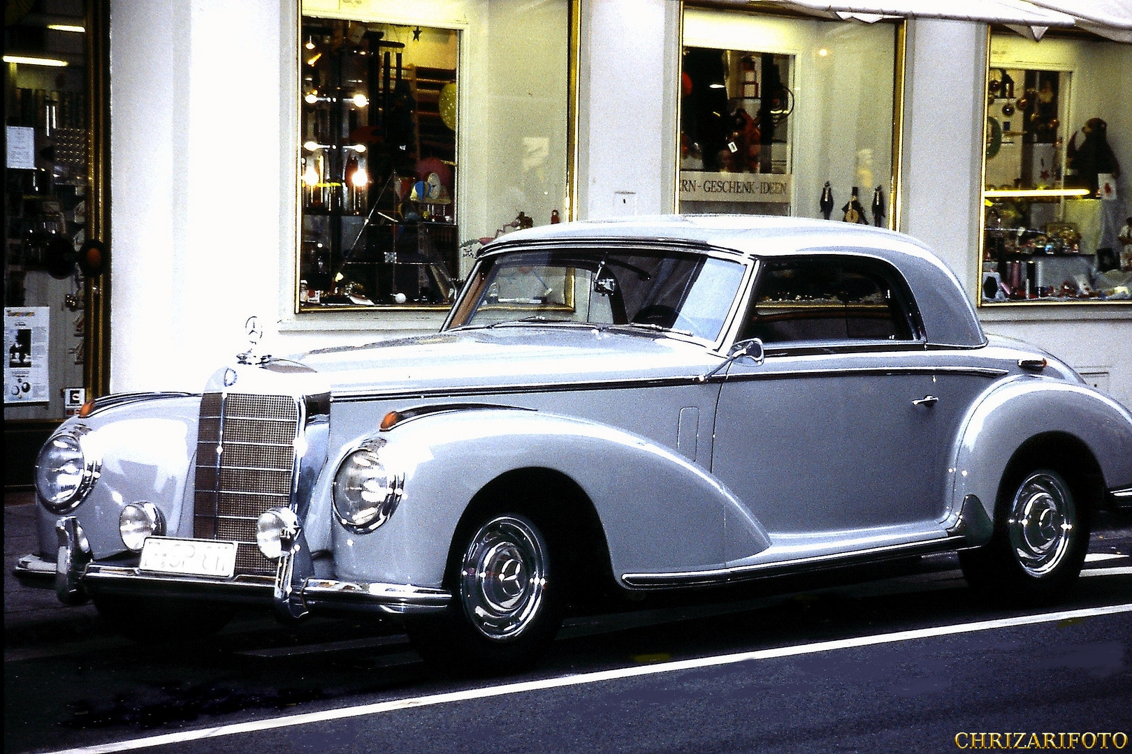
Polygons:
<instances>
[{"instance_id":1,"label":"whole rear wheel of the car, black tire and chrome hubcap","mask_svg":"<svg viewBox=\"0 0 1132 754\"><path fill-rule=\"evenodd\" d=\"M983 591L1056 596L1084 563L1089 527L1072 487L1052 469L1032 469L1004 485L990 541L959 554L968 582Z\"/></svg>"}]
</instances>

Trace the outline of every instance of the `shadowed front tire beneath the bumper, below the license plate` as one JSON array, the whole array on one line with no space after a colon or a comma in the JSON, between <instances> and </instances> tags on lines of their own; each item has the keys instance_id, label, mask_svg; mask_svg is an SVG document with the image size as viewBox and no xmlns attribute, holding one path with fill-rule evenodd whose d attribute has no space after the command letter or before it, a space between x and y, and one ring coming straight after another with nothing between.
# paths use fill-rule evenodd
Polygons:
<instances>
[{"instance_id":1,"label":"shadowed front tire beneath the bumper, below the license plate","mask_svg":"<svg viewBox=\"0 0 1132 754\"><path fill-rule=\"evenodd\" d=\"M106 623L135 641L191 641L213 635L232 619L229 605L163 597L100 595L94 607Z\"/></svg>"}]
</instances>

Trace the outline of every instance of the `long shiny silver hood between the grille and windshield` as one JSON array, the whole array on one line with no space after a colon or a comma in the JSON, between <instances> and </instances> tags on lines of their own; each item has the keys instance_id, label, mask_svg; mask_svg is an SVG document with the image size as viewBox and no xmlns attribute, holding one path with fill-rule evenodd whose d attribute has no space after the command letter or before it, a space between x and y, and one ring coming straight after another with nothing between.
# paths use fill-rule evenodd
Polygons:
<instances>
[{"instance_id":1,"label":"long shiny silver hood between the grille and windshield","mask_svg":"<svg viewBox=\"0 0 1132 754\"><path fill-rule=\"evenodd\" d=\"M338 393L683 378L719 358L661 333L522 324L325 348L295 361Z\"/></svg>"}]
</instances>

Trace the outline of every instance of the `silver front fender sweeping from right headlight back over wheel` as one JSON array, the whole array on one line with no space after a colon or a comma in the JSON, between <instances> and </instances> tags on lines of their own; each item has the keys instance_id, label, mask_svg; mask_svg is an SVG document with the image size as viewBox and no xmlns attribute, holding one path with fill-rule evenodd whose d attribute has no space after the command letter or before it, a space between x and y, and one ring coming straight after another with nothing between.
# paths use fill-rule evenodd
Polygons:
<instances>
[{"instance_id":1,"label":"silver front fender sweeping from right headlight back over wheel","mask_svg":"<svg viewBox=\"0 0 1132 754\"><path fill-rule=\"evenodd\" d=\"M747 527L753 552L770 544L741 503L702 468L607 425L533 410L471 409L420 416L379 436L386 440L383 462L404 475L404 496L371 534L334 525L340 578L439 587L469 503L491 480L524 468L559 471L585 492L615 573L723 567L731 515Z\"/></svg>"}]
</instances>

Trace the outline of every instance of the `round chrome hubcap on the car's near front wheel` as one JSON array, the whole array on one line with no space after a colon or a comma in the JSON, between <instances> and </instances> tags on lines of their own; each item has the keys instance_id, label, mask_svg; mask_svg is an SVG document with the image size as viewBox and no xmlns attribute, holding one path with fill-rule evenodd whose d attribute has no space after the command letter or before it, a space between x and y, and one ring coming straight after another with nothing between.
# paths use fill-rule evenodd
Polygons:
<instances>
[{"instance_id":1,"label":"round chrome hubcap on the car's near front wheel","mask_svg":"<svg viewBox=\"0 0 1132 754\"><path fill-rule=\"evenodd\" d=\"M523 519L492 519L472 537L460 581L460 597L472 625L488 639L514 639L534 622L542 605L546 545Z\"/></svg>"}]
</instances>

